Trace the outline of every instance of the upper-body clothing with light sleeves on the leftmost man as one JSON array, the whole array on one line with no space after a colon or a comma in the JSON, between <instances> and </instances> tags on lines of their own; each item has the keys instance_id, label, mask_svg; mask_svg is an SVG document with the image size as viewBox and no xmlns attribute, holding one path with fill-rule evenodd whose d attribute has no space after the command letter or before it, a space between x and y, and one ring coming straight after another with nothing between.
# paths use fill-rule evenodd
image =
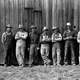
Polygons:
<instances>
[{"instance_id":1,"label":"upper-body clothing with light sleeves on the leftmost man","mask_svg":"<svg viewBox=\"0 0 80 80\"><path fill-rule=\"evenodd\" d=\"M13 39L12 32L9 32L9 33L4 32L2 34L1 42L3 43L3 45L5 47L8 47L8 46L10 46L12 39Z\"/></svg>"}]
</instances>

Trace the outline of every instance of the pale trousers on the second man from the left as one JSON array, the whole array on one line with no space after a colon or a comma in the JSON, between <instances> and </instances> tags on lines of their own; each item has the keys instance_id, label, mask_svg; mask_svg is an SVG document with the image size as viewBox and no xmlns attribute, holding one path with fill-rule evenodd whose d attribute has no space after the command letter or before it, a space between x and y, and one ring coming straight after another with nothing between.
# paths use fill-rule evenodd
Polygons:
<instances>
[{"instance_id":1,"label":"pale trousers on the second man from the left","mask_svg":"<svg viewBox=\"0 0 80 80\"><path fill-rule=\"evenodd\" d=\"M16 58L19 65L24 64L25 45L16 46Z\"/></svg>"}]
</instances>

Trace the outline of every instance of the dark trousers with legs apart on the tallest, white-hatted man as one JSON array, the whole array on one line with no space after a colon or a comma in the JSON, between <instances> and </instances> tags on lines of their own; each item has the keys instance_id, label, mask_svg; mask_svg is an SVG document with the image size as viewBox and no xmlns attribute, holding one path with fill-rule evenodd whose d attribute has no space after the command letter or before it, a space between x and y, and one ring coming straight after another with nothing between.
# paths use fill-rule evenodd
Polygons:
<instances>
[{"instance_id":1,"label":"dark trousers with legs apart on the tallest, white-hatted man","mask_svg":"<svg viewBox=\"0 0 80 80\"><path fill-rule=\"evenodd\" d=\"M75 53L74 53L74 47L73 47L73 42L72 40L67 40L65 41L65 55L64 55L64 62L68 62L68 50L71 50L71 62L72 64L75 63ZM70 54L70 53L69 53Z\"/></svg>"}]
</instances>

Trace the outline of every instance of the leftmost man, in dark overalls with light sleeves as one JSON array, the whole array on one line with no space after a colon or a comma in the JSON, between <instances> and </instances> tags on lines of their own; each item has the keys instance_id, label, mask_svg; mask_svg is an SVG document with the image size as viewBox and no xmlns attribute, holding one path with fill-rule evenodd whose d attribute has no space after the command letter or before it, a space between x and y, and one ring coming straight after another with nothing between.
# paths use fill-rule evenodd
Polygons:
<instances>
[{"instance_id":1,"label":"leftmost man, in dark overalls with light sleeves","mask_svg":"<svg viewBox=\"0 0 80 80\"><path fill-rule=\"evenodd\" d=\"M12 27L10 24L6 26L6 31L2 34L2 44L4 47L4 65L8 66L11 65L11 54L12 54L12 39L13 39L13 34L12 34Z\"/></svg>"}]
</instances>

